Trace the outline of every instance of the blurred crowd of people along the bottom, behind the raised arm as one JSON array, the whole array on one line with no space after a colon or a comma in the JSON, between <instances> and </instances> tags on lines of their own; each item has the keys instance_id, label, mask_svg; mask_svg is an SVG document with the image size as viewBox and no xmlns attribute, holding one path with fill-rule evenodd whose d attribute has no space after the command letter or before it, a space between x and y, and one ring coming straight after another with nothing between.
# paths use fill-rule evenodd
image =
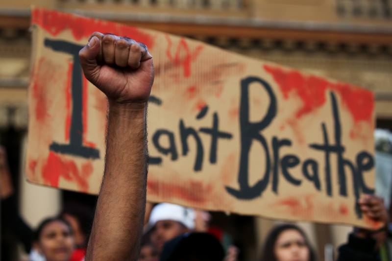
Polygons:
<instances>
[{"instance_id":1,"label":"blurred crowd of people along the bottom, behind the raised arm","mask_svg":"<svg viewBox=\"0 0 392 261\"><path fill-rule=\"evenodd\" d=\"M0 147L1 230L23 245L29 261L83 261L94 210L78 203L65 204L56 216L29 227L18 212L12 175ZM358 202L362 212L383 226L378 230L354 228L339 247L338 261L388 261L391 257L389 215L383 200L366 195ZM147 204L139 261L237 261L241 249L225 240L225 231L210 226L211 215L179 205ZM2 239L2 260L10 260ZM294 224L274 227L262 247L260 261L316 261L305 232ZM321 258L319 258L321 260Z\"/></svg>"}]
</instances>

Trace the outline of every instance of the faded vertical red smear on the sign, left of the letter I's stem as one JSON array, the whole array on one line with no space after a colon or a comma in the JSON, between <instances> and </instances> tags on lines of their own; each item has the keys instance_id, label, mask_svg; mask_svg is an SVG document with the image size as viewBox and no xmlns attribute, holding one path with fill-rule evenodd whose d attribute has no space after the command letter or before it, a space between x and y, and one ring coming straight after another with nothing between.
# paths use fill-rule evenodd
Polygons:
<instances>
[{"instance_id":1,"label":"faded vertical red smear on the sign, left of the letter I's stem","mask_svg":"<svg viewBox=\"0 0 392 261\"><path fill-rule=\"evenodd\" d=\"M44 63L45 63L45 59L43 57L40 58L35 72L40 71ZM32 88L33 89L32 95L35 99L35 119L37 119L37 121L42 123L45 120L46 116L48 116L47 100L46 100L47 94L43 88L44 83L41 82L44 81L44 79L39 79L39 78L37 79L37 77L39 76L34 75L35 81Z\"/></svg>"}]
</instances>

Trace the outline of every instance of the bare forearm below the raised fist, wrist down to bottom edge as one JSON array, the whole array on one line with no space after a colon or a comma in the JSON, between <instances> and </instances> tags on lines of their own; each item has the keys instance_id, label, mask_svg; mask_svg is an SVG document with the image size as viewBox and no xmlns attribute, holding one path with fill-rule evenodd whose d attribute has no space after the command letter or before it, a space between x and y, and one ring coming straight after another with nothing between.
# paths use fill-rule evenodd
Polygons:
<instances>
[{"instance_id":1,"label":"bare forearm below the raised fist, wrist down to bottom edge","mask_svg":"<svg viewBox=\"0 0 392 261\"><path fill-rule=\"evenodd\" d=\"M106 162L86 260L136 260L146 205L147 104L109 104Z\"/></svg>"}]
</instances>

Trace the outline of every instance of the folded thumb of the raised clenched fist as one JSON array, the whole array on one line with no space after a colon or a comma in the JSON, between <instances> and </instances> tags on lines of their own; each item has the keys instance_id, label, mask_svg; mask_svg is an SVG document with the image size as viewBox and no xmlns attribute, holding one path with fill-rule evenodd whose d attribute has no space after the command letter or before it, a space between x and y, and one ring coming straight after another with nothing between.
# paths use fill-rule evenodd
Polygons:
<instances>
[{"instance_id":1,"label":"folded thumb of the raised clenched fist","mask_svg":"<svg viewBox=\"0 0 392 261\"><path fill-rule=\"evenodd\" d=\"M84 76L90 82L94 82L99 74L100 66L97 64L97 57L100 51L100 41L97 36L93 36L89 43L79 51L80 65Z\"/></svg>"}]
</instances>

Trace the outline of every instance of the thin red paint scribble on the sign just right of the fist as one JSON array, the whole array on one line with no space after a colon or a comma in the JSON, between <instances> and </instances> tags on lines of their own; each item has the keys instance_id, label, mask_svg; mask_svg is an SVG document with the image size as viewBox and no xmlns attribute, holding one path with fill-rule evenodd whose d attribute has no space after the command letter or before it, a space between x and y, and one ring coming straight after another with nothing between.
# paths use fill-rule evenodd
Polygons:
<instances>
[{"instance_id":1,"label":"thin red paint scribble on the sign just right of the fist","mask_svg":"<svg viewBox=\"0 0 392 261\"><path fill-rule=\"evenodd\" d=\"M198 45L195 50L191 52L188 47L188 43L185 41L184 38L181 38L177 48L175 50L174 57L172 55L172 40L170 39L169 35L165 35L166 40L168 41L168 47L166 49L166 55L169 60L175 64L176 66L182 65L184 70L184 76L190 77L191 76L191 63L196 57L200 54L201 50L203 49L202 45Z\"/></svg>"}]
</instances>

